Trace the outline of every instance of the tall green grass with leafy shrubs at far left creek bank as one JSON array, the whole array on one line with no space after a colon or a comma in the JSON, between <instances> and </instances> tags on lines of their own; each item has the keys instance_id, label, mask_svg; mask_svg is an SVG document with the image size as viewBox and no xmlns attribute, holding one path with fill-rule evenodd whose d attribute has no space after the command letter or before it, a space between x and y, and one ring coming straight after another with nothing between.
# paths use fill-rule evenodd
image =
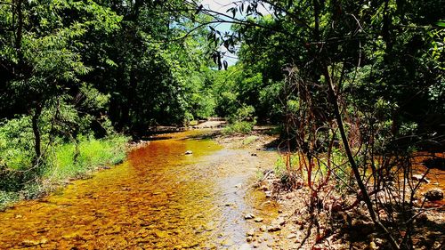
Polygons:
<instances>
[{"instance_id":1,"label":"tall green grass with leafy shrubs at far left creek bank","mask_svg":"<svg viewBox=\"0 0 445 250\"><path fill-rule=\"evenodd\" d=\"M38 198L70 179L85 176L125 158L128 138L109 129L100 139L93 133L63 137L42 126L42 156L36 157L29 116L0 123L0 210L20 199Z\"/></svg>"}]
</instances>

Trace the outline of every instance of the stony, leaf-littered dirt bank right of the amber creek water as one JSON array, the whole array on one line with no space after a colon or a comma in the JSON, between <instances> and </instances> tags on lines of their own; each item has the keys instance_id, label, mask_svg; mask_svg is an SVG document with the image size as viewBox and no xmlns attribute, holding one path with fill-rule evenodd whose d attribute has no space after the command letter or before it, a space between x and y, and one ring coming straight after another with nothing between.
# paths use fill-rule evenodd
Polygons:
<instances>
[{"instance_id":1,"label":"stony, leaf-littered dirt bank right of the amber creek water","mask_svg":"<svg viewBox=\"0 0 445 250\"><path fill-rule=\"evenodd\" d=\"M308 213L310 190L303 181L296 190L279 187L280 180L273 170L282 156L278 152L263 154L273 150L270 146L277 144L275 139L260 132L215 139L225 148L247 149L258 158L258 169L262 174L257 176L253 189L267 197L265 203L274 204L278 209L278 213L269 216L267 221L263 220L262 214L245 216L252 228L246 235L246 245L240 249L391 249L384 235L378 233L369 221L363 204L347 211L335 211L336 200L324 200L321 212L311 216ZM419 165L417 161L414 164L416 172L425 172L425 165ZM422 188L422 194L424 190L444 184L441 179L443 170L433 169L431 173L428 178L432 181ZM340 198L342 194L334 194L333 197ZM354 197L344 198L353 200ZM429 208L416 218L413 243L416 249L441 249L445 242L442 202L426 201L425 206Z\"/></svg>"}]
</instances>

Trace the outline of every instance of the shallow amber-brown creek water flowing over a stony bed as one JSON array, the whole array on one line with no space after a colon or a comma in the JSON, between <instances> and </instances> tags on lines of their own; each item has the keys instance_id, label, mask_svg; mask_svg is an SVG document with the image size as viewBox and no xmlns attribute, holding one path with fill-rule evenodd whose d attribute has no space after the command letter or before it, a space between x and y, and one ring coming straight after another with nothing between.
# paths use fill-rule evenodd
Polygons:
<instances>
[{"instance_id":1,"label":"shallow amber-brown creek water flowing over a stony bed","mask_svg":"<svg viewBox=\"0 0 445 250\"><path fill-rule=\"evenodd\" d=\"M0 249L238 249L252 223L242 214L267 222L276 208L249 189L259 157L201 133L161 135L122 165L0 213Z\"/></svg>"}]
</instances>

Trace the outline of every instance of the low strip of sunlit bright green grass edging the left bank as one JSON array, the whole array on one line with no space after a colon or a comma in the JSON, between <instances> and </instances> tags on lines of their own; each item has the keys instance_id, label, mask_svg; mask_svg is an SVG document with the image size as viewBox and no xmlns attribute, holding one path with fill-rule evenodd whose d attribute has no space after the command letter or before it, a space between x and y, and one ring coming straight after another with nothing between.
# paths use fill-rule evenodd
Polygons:
<instances>
[{"instance_id":1,"label":"low strip of sunlit bright green grass edging the left bank","mask_svg":"<svg viewBox=\"0 0 445 250\"><path fill-rule=\"evenodd\" d=\"M0 210L20 199L38 198L68 180L81 178L103 166L122 162L126 141L128 138L123 135L113 135L104 139L82 138L78 150L74 143L56 145L38 171L29 172L32 176L27 178L14 169L4 170L5 174L0 177L6 176L8 180L0 181ZM17 162L14 158L11 161Z\"/></svg>"}]
</instances>

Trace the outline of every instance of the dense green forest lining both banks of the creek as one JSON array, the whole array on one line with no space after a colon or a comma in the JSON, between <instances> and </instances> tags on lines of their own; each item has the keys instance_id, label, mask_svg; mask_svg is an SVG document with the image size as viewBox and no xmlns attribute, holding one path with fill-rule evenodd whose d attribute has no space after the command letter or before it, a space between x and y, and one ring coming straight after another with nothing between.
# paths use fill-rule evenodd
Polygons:
<instances>
[{"instance_id":1,"label":"dense green forest lining both banks of the creek","mask_svg":"<svg viewBox=\"0 0 445 250\"><path fill-rule=\"evenodd\" d=\"M228 135L276 127L313 227L335 182L412 249L427 172L410 165L445 149L445 2L222 2L0 1L0 207L122 162L157 126L224 117Z\"/></svg>"}]
</instances>

